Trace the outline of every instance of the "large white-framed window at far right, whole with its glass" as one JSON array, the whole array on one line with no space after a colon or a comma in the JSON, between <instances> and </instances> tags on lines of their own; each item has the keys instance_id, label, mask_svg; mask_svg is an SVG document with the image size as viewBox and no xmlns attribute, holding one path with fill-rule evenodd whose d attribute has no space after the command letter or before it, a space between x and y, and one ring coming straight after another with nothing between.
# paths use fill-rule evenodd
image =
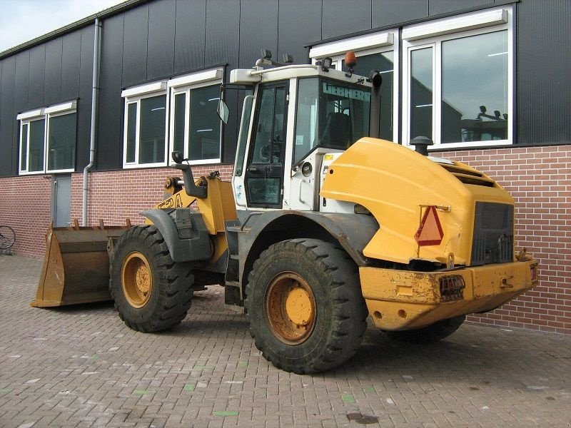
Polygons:
<instances>
[{"instance_id":1,"label":"large white-framed window at far right, whole with its glass","mask_svg":"<svg viewBox=\"0 0 571 428\"><path fill-rule=\"evenodd\" d=\"M511 10L469 14L403 30L403 143L435 148L510 143Z\"/></svg>"}]
</instances>

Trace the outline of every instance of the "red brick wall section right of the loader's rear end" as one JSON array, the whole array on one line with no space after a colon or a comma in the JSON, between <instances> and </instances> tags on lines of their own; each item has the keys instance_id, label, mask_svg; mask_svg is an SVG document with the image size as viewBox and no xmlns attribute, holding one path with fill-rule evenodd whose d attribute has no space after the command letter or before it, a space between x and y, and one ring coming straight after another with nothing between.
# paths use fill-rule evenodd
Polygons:
<instances>
[{"instance_id":1,"label":"red brick wall section right of the loader's rear end","mask_svg":"<svg viewBox=\"0 0 571 428\"><path fill-rule=\"evenodd\" d=\"M571 146L439 153L490 175L515 198L516 248L540 263L540 285L476 323L571 334Z\"/></svg>"}]
</instances>

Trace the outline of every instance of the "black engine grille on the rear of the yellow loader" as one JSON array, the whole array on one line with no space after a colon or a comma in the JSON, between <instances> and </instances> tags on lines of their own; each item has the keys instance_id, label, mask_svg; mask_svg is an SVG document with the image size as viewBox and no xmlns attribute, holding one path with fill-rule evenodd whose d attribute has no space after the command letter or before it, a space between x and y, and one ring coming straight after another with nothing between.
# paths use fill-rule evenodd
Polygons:
<instances>
[{"instance_id":1,"label":"black engine grille on the rear of the yellow loader","mask_svg":"<svg viewBox=\"0 0 571 428\"><path fill-rule=\"evenodd\" d=\"M472 265L513 261L513 205L477 202Z\"/></svg>"}]
</instances>

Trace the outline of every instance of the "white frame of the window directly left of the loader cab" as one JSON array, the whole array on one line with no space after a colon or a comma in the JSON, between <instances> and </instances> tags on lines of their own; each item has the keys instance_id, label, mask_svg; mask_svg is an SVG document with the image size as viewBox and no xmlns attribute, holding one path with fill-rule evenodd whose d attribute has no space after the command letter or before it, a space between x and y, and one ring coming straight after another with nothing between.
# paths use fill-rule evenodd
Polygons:
<instances>
[{"instance_id":1,"label":"white frame of the window directly left of the loader cab","mask_svg":"<svg viewBox=\"0 0 571 428\"><path fill-rule=\"evenodd\" d=\"M184 158L189 157L188 148L190 140L190 115L191 115L191 91L193 89L204 88L206 86L220 85L223 83L223 68L213 68L207 71L197 71L196 73L187 74L168 81L168 93L170 96L170 112L169 121L169 144L168 153L174 150L174 126L175 126L175 97L178 94L185 94L185 116L184 116ZM218 141L218 158L196 159L188 161L190 165L208 165L221 162L222 153L222 121L220 126L220 141Z\"/></svg>"}]
</instances>

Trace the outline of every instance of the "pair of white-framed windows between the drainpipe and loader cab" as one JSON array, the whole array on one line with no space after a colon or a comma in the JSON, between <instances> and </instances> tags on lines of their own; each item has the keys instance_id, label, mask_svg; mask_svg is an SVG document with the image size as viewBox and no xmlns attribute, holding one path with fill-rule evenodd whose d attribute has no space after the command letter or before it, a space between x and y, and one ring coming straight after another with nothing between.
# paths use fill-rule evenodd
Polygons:
<instances>
[{"instance_id":1,"label":"pair of white-framed windows between the drainpipe and loader cab","mask_svg":"<svg viewBox=\"0 0 571 428\"><path fill-rule=\"evenodd\" d=\"M217 68L123 91L123 166L165 166L171 151L194 164L219 162L221 83Z\"/></svg>"}]
</instances>

